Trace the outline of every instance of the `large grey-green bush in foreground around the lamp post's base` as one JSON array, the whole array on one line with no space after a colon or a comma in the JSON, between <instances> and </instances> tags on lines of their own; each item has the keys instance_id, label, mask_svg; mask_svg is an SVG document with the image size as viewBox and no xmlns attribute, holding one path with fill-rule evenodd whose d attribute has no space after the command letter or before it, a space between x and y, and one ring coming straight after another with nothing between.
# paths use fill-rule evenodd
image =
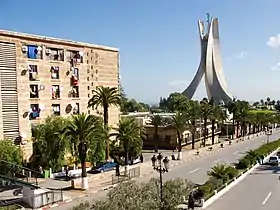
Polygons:
<instances>
[{"instance_id":1,"label":"large grey-green bush in foreground around the lamp post's base","mask_svg":"<svg viewBox=\"0 0 280 210\"><path fill-rule=\"evenodd\" d=\"M134 181L122 183L108 193L108 198L95 203L96 210L175 210L175 206L184 201L190 190L191 183L183 179L169 180L163 185L163 207L160 203L159 180L151 179L148 183ZM75 209L88 210L85 204ZM73 209L74 210L74 209Z\"/></svg>"}]
</instances>

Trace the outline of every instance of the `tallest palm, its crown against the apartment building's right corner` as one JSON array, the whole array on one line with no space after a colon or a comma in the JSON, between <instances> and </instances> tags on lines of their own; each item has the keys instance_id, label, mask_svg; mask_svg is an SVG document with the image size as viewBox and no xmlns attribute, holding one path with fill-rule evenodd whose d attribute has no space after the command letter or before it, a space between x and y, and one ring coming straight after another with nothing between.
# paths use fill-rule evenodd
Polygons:
<instances>
[{"instance_id":1,"label":"tallest palm, its crown against the apartment building's right corner","mask_svg":"<svg viewBox=\"0 0 280 210\"><path fill-rule=\"evenodd\" d=\"M94 94L88 101L88 107L97 108L101 106L103 108L103 120L105 129L109 129L109 107L110 106L120 106L121 96L119 90L116 87L103 87L98 86L94 90ZM110 155L110 139L106 139L106 159L109 160Z\"/></svg>"}]
</instances>

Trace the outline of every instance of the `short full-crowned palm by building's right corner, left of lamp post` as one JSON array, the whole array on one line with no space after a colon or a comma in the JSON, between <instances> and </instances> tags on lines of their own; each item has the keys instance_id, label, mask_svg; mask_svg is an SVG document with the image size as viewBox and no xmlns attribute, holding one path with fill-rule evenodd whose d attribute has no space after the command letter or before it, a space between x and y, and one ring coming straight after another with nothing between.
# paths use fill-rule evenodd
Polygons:
<instances>
[{"instance_id":1,"label":"short full-crowned palm by building's right corner, left of lamp post","mask_svg":"<svg viewBox=\"0 0 280 210\"><path fill-rule=\"evenodd\" d=\"M116 141L124 150L125 158L125 173L127 174L127 168L129 165L129 151L133 147L142 149L144 129L140 126L139 122L135 118L123 117L118 123L116 133L112 134L116 137Z\"/></svg>"}]
</instances>

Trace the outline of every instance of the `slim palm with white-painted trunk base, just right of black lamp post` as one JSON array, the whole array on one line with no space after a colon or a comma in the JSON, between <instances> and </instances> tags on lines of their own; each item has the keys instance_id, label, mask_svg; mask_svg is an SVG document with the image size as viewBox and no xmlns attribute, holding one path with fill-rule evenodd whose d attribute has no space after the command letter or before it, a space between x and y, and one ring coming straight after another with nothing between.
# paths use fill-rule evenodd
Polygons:
<instances>
[{"instance_id":1,"label":"slim palm with white-painted trunk base, just right of black lamp post","mask_svg":"<svg viewBox=\"0 0 280 210\"><path fill-rule=\"evenodd\" d=\"M187 115L181 112L176 112L172 117L171 126L176 129L177 138L178 138L178 160L182 159L182 140L183 132L187 129L188 125Z\"/></svg>"}]
</instances>

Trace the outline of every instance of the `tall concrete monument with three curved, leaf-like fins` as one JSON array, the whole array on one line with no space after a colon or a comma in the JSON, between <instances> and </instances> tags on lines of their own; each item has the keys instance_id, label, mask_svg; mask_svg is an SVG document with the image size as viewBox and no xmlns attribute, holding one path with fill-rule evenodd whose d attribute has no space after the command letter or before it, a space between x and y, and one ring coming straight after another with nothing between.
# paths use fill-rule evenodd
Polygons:
<instances>
[{"instance_id":1,"label":"tall concrete monument with three curved, leaf-like fins","mask_svg":"<svg viewBox=\"0 0 280 210\"><path fill-rule=\"evenodd\" d=\"M218 19L210 17L207 13L206 26L199 20L198 30L201 45L200 64L191 84L182 94L191 99L204 76L208 99L213 98L216 103L229 102L233 97L227 90L222 68Z\"/></svg>"}]
</instances>

